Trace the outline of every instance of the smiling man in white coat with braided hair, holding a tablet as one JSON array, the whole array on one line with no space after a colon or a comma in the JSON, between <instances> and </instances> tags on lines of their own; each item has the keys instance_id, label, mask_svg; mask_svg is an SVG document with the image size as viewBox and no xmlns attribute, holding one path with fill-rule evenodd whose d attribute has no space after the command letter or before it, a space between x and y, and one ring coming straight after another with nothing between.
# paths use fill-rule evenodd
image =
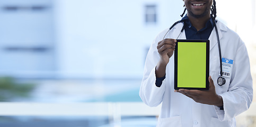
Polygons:
<instances>
[{"instance_id":1,"label":"smiling man in white coat with braided hair, holding a tablet","mask_svg":"<svg viewBox=\"0 0 256 127\"><path fill-rule=\"evenodd\" d=\"M183 1L187 15L170 31L158 34L148 51L139 95L149 106L162 103L157 126L235 126L235 116L248 110L253 96L245 44L239 35L215 21L215 0ZM215 23L222 58L233 60L231 74L222 86L217 84L220 61ZM209 90L174 90L176 38L210 40Z\"/></svg>"}]
</instances>

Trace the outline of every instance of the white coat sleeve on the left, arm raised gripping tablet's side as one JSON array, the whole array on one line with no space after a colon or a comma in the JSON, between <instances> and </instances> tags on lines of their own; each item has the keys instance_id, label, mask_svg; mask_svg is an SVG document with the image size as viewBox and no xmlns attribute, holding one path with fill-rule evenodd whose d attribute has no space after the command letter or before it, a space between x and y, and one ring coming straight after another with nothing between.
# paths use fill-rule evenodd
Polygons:
<instances>
[{"instance_id":1,"label":"white coat sleeve on the left, arm raised gripping tablet's side","mask_svg":"<svg viewBox=\"0 0 256 127\"><path fill-rule=\"evenodd\" d=\"M158 35L149 48L145 62L142 85L139 90L140 98L142 98L142 101L148 106L157 106L161 104L165 89L166 79L163 80L161 87L155 85L155 67L160 59L160 55L157 51L157 43L161 40L161 37Z\"/></svg>"}]
</instances>

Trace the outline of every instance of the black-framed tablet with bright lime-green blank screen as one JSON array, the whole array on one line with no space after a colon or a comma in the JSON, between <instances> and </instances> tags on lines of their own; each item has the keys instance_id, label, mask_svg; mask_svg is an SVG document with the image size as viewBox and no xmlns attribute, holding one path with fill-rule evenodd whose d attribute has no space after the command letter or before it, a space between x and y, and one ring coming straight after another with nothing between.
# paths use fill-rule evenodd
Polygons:
<instances>
[{"instance_id":1,"label":"black-framed tablet with bright lime-green blank screen","mask_svg":"<svg viewBox=\"0 0 256 127\"><path fill-rule=\"evenodd\" d=\"M209 89L209 40L177 40L174 89Z\"/></svg>"}]
</instances>

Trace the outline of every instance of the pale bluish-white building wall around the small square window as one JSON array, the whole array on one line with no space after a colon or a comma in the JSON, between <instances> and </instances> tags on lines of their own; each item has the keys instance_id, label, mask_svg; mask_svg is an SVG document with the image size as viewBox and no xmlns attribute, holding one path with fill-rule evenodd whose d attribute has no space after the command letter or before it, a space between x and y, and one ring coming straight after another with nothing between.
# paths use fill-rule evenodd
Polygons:
<instances>
[{"instance_id":1,"label":"pale bluish-white building wall around the small square window","mask_svg":"<svg viewBox=\"0 0 256 127\"><path fill-rule=\"evenodd\" d=\"M145 23L146 4L157 5L156 24ZM55 5L59 76L75 78L142 78L147 48L183 12L182 1L166 0Z\"/></svg>"}]
</instances>

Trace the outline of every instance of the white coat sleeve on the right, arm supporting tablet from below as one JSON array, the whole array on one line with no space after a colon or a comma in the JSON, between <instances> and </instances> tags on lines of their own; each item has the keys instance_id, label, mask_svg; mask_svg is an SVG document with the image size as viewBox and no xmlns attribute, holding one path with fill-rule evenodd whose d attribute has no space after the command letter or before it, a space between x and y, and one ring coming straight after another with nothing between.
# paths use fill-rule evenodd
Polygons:
<instances>
[{"instance_id":1,"label":"white coat sleeve on the right, arm supporting tablet from below","mask_svg":"<svg viewBox=\"0 0 256 127\"><path fill-rule=\"evenodd\" d=\"M224 110L219 110L219 107L215 106L220 121L232 119L248 110L252 103L253 86L250 61L245 44L241 39L237 47L232 71L228 92L220 94L223 98Z\"/></svg>"}]
</instances>

